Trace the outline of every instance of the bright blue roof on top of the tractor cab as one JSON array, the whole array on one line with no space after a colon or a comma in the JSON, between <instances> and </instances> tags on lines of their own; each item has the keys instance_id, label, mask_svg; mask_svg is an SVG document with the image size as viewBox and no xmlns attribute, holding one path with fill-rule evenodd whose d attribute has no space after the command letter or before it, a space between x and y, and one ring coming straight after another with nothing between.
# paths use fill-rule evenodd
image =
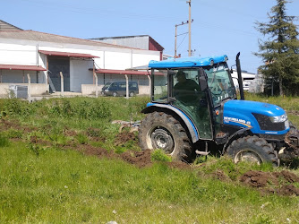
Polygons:
<instances>
[{"instance_id":1,"label":"bright blue roof on top of the tractor cab","mask_svg":"<svg viewBox=\"0 0 299 224\"><path fill-rule=\"evenodd\" d=\"M220 62L226 62L228 57L223 56L209 56L209 57L199 57L199 56L188 56L188 57L169 57L167 60L163 61L153 61L149 62L149 68L182 68L182 67L201 67L218 64Z\"/></svg>"}]
</instances>

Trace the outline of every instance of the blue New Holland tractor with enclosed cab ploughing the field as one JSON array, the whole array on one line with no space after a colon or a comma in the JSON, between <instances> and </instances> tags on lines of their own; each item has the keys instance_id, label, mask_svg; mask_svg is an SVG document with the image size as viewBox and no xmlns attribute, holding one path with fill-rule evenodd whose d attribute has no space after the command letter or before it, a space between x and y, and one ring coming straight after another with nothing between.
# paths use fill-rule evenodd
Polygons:
<instances>
[{"instance_id":1,"label":"blue New Holland tractor with enclosed cab ploughing the field","mask_svg":"<svg viewBox=\"0 0 299 224\"><path fill-rule=\"evenodd\" d=\"M237 99L227 56L168 58L150 61L151 99L141 112L141 149L162 149L189 161L212 149L235 162L279 166L282 157L298 156L298 131L276 105L244 100L240 53ZM292 130L292 132L290 132Z\"/></svg>"}]
</instances>

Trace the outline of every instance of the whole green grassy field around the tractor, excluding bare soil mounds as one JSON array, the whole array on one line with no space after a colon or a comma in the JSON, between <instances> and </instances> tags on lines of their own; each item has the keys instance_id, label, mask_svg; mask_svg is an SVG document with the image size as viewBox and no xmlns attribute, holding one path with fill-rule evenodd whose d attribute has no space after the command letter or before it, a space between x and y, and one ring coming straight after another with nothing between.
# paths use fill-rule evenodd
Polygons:
<instances>
[{"instance_id":1,"label":"whole green grassy field around the tractor, excluding bare soil mounds","mask_svg":"<svg viewBox=\"0 0 299 224\"><path fill-rule=\"evenodd\" d=\"M299 125L298 98L247 98L286 108ZM167 162L138 168L123 159L82 153L87 146L139 151L137 141L115 144L119 125L110 122L141 119L139 111L148 100L75 98L29 104L0 99L0 222L299 222L299 197L261 192L239 181L249 170L286 168L235 165L226 157L200 159L184 169L170 168ZM215 175L220 171L226 179ZM299 175L299 169L291 171Z\"/></svg>"}]
</instances>

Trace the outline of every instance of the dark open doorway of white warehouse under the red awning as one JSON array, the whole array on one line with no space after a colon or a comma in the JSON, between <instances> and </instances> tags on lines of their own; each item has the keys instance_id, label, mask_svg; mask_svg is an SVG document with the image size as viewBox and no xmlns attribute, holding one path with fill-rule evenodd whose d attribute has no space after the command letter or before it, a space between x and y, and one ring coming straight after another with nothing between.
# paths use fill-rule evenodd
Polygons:
<instances>
[{"instance_id":1,"label":"dark open doorway of white warehouse under the red awning","mask_svg":"<svg viewBox=\"0 0 299 224\"><path fill-rule=\"evenodd\" d=\"M48 73L56 91L61 91L60 72L64 75L64 91L70 91L70 58L65 56L47 56ZM50 85L50 92L53 92Z\"/></svg>"}]
</instances>

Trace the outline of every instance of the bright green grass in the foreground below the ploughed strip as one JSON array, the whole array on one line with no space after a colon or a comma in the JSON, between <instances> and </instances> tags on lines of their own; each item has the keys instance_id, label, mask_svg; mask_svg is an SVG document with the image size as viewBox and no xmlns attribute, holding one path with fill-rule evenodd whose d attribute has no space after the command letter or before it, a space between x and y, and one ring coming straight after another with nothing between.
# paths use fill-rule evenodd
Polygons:
<instances>
[{"instance_id":1,"label":"bright green grass in the foreground below the ploughed strip","mask_svg":"<svg viewBox=\"0 0 299 224\"><path fill-rule=\"evenodd\" d=\"M298 198L261 196L242 185L202 177L198 169L171 169L163 163L135 168L117 159L53 148L37 156L21 142L0 148L0 157L5 158L0 164L0 222L299 220Z\"/></svg>"}]
</instances>

